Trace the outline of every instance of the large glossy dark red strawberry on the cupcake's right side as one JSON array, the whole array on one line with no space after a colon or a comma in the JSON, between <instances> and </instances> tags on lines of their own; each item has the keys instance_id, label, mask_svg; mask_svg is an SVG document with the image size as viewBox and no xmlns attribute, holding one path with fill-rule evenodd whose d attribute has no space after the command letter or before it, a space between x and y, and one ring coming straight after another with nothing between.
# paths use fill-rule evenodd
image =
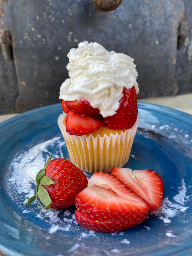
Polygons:
<instances>
[{"instance_id":1,"label":"large glossy dark red strawberry on the cupcake's right side","mask_svg":"<svg viewBox=\"0 0 192 256\"><path fill-rule=\"evenodd\" d=\"M138 116L135 86L130 89L123 88L123 96L119 104L115 115L103 119L103 125L109 129L129 129L135 124Z\"/></svg>"}]
</instances>

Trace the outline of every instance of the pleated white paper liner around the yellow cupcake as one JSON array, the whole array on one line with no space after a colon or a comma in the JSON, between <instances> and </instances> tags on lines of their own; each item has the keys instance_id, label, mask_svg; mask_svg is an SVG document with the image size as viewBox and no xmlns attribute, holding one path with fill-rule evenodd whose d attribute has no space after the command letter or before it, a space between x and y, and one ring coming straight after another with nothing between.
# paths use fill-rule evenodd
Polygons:
<instances>
[{"instance_id":1,"label":"pleated white paper liner around the yellow cupcake","mask_svg":"<svg viewBox=\"0 0 192 256\"><path fill-rule=\"evenodd\" d=\"M120 134L97 135L70 135L66 132L61 114L58 125L66 142L70 160L81 170L89 173L97 171L109 172L112 167L122 167L128 160L136 130L139 125L139 116L132 128L121 131Z\"/></svg>"}]
</instances>

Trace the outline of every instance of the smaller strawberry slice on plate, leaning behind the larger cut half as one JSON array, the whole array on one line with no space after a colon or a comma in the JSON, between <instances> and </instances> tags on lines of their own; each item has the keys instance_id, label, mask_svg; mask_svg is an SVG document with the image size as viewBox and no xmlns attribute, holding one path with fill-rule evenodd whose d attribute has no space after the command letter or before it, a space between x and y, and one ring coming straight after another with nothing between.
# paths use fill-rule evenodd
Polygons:
<instances>
[{"instance_id":1,"label":"smaller strawberry slice on plate, leaning behind the larger cut half","mask_svg":"<svg viewBox=\"0 0 192 256\"><path fill-rule=\"evenodd\" d=\"M143 198L149 204L149 211L159 208L163 199L163 180L155 171L112 168L111 174Z\"/></svg>"}]
</instances>

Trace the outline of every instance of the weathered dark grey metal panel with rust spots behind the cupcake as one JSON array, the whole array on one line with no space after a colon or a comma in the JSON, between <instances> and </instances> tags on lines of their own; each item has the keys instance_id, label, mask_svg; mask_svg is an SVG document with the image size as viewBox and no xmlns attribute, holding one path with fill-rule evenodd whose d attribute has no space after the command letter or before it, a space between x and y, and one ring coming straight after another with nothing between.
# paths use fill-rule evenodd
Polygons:
<instances>
[{"instance_id":1,"label":"weathered dark grey metal panel with rust spots behind the cupcake","mask_svg":"<svg viewBox=\"0 0 192 256\"><path fill-rule=\"evenodd\" d=\"M60 102L66 55L83 40L135 59L138 98L192 92L191 0L122 0L109 12L98 10L93 0L9 0L2 6L0 29L11 33L14 62L1 47L0 114ZM188 31L177 50L181 24ZM10 99L11 110L5 104Z\"/></svg>"}]
</instances>

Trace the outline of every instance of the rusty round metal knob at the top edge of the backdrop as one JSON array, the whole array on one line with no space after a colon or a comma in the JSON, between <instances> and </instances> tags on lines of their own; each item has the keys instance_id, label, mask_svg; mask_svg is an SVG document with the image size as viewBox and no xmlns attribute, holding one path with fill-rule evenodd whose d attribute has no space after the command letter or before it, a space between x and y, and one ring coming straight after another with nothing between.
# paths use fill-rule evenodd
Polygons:
<instances>
[{"instance_id":1,"label":"rusty round metal knob at the top edge of the backdrop","mask_svg":"<svg viewBox=\"0 0 192 256\"><path fill-rule=\"evenodd\" d=\"M115 10L122 0L93 0L95 6L104 12Z\"/></svg>"}]
</instances>

